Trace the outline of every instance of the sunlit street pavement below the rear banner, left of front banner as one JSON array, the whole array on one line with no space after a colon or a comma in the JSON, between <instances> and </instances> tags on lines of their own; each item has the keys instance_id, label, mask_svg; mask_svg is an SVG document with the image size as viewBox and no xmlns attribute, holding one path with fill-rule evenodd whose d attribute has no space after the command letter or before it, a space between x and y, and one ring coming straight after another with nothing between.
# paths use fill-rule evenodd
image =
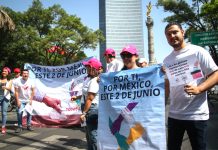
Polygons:
<instances>
[{"instance_id":1,"label":"sunlit street pavement below the rear banner, left of front banner","mask_svg":"<svg viewBox=\"0 0 218 150\"><path fill-rule=\"evenodd\" d=\"M34 128L15 133L16 112L8 113L7 134L0 135L1 150L85 150L86 139L82 128Z\"/></svg>"}]
</instances>

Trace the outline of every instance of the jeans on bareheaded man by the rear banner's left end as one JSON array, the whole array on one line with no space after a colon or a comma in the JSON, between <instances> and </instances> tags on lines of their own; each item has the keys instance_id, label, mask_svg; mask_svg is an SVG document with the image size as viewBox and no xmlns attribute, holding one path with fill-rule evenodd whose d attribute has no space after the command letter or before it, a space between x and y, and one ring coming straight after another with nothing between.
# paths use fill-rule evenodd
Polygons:
<instances>
[{"instance_id":1,"label":"jeans on bareheaded man by the rear banner's left end","mask_svg":"<svg viewBox=\"0 0 218 150\"><path fill-rule=\"evenodd\" d=\"M20 108L18 108L18 127L22 127L22 116L23 116L23 109L26 106L26 102L21 102ZM27 126L31 126L32 116L27 112Z\"/></svg>"}]
</instances>

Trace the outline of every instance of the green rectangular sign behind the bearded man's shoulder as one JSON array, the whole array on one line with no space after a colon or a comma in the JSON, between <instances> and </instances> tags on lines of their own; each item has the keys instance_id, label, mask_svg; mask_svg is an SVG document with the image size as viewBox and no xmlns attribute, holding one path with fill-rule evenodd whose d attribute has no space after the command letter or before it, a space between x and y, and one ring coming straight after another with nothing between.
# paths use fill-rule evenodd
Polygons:
<instances>
[{"instance_id":1,"label":"green rectangular sign behind the bearded man's shoulder","mask_svg":"<svg viewBox=\"0 0 218 150\"><path fill-rule=\"evenodd\" d=\"M218 31L191 33L191 43L201 46L218 45Z\"/></svg>"}]
</instances>

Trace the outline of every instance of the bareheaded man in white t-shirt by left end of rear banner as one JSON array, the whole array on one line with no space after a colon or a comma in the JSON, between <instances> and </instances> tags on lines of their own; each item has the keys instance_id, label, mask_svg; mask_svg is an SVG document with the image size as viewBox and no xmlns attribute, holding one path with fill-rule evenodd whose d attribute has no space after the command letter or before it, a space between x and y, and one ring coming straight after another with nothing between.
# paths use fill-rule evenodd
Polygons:
<instances>
[{"instance_id":1,"label":"bareheaded man in white t-shirt by left end of rear banner","mask_svg":"<svg viewBox=\"0 0 218 150\"><path fill-rule=\"evenodd\" d=\"M32 105L32 100L34 96L35 86L31 79L29 79L29 71L22 71L22 78L16 80L14 85L15 87L15 98L18 107L18 128L16 129L16 133L20 133L22 131L22 115L27 104ZM27 112L27 130L33 131L31 127L31 119L32 116L29 112Z\"/></svg>"}]
</instances>

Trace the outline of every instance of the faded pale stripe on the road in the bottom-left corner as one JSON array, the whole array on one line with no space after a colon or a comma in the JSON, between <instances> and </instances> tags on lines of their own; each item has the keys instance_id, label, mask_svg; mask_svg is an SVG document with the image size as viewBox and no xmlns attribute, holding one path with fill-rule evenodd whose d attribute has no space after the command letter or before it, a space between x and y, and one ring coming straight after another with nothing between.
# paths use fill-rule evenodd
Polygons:
<instances>
[{"instance_id":1,"label":"faded pale stripe on the road in the bottom-left corner","mask_svg":"<svg viewBox=\"0 0 218 150\"><path fill-rule=\"evenodd\" d=\"M26 138L34 137L37 135L39 135L39 133L35 133L35 132L27 132L24 134L17 134L17 136L3 140L2 142L4 142L4 143L0 144L0 148L3 148L3 147L10 145L10 144L18 143L22 140L25 140Z\"/></svg>"}]
</instances>

